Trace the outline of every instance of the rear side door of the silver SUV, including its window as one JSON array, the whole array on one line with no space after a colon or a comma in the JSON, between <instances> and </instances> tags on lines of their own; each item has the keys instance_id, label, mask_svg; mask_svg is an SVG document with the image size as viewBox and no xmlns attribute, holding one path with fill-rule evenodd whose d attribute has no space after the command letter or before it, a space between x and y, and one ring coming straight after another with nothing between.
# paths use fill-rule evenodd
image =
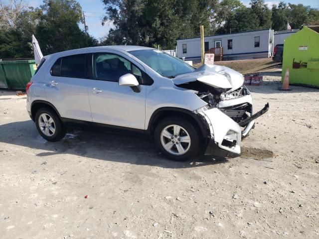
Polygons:
<instances>
[{"instance_id":1,"label":"rear side door of the silver SUV, including its window","mask_svg":"<svg viewBox=\"0 0 319 239\"><path fill-rule=\"evenodd\" d=\"M92 77L90 54L57 59L45 85L47 100L63 118L92 121L87 85Z\"/></svg>"}]
</instances>

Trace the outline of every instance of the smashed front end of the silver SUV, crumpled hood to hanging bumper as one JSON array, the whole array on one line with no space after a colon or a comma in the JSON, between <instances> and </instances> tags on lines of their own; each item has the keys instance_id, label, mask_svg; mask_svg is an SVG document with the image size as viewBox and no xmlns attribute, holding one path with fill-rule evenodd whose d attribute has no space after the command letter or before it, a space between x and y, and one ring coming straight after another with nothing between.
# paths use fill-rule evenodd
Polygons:
<instances>
[{"instance_id":1,"label":"smashed front end of the silver SUV, crumpled hood to hanging bumper","mask_svg":"<svg viewBox=\"0 0 319 239\"><path fill-rule=\"evenodd\" d=\"M206 106L194 111L204 119L209 139L219 148L240 154L243 137L255 119L269 109L267 103L253 115L252 96L243 85L242 74L223 66L203 65L194 72L173 79L175 85L194 90Z\"/></svg>"}]
</instances>

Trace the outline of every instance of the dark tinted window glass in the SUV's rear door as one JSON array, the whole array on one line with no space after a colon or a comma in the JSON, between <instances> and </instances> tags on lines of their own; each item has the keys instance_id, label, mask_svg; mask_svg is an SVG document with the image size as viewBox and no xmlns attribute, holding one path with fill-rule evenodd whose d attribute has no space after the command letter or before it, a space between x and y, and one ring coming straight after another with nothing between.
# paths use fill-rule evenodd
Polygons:
<instances>
[{"instance_id":1,"label":"dark tinted window glass in the SUV's rear door","mask_svg":"<svg viewBox=\"0 0 319 239\"><path fill-rule=\"evenodd\" d=\"M79 54L62 57L60 76L72 78L85 78L85 55L86 54Z\"/></svg>"}]
</instances>

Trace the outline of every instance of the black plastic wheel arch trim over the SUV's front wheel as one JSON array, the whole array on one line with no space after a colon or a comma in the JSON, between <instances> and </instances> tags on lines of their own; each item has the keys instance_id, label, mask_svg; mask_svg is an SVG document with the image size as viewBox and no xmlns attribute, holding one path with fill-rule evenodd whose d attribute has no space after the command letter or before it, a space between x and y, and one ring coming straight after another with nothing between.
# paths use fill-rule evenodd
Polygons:
<instances>
[{"instance_id":1,"label":"black plastic wheel arch trim over the SUV's front wheel","mask_svg":"<svg viewBox=\"0 0 319 239\"><path fill-rule=\"evenodd\" d=\"M192 123L195 126L196 130L199 130L200 136L202 136L203 139L207 138L209 128L208 125L205 123L204 119L201 119L200 116L196 115L195 113L189 110L175 107L163 107L157 109L150 118L147 134L153 135L156 125L162 119L168 117L180 117L183 119L187 119L190 123Z\"/></svg>"}]
</instances>

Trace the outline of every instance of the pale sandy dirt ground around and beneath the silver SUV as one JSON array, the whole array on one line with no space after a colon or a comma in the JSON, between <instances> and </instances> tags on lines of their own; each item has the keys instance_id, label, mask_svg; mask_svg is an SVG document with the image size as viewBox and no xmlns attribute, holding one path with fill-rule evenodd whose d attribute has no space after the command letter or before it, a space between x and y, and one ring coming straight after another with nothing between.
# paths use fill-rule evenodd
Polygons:
<instances>
[{"instance_id":1,"label":"pale sandy dirt ground around and beneath the silver SUV","mask_svg":"<svg viewBox=\"0 0 319 239\"><path fill-rule=\"evenodd\" d=\"M249 88L270 110L242 155L188 162L140 137L46 142L25 97L0 91L0 238L318 239L319 90L281 92L280 72L263 75Z\"/></svg>"}]
</instances>

